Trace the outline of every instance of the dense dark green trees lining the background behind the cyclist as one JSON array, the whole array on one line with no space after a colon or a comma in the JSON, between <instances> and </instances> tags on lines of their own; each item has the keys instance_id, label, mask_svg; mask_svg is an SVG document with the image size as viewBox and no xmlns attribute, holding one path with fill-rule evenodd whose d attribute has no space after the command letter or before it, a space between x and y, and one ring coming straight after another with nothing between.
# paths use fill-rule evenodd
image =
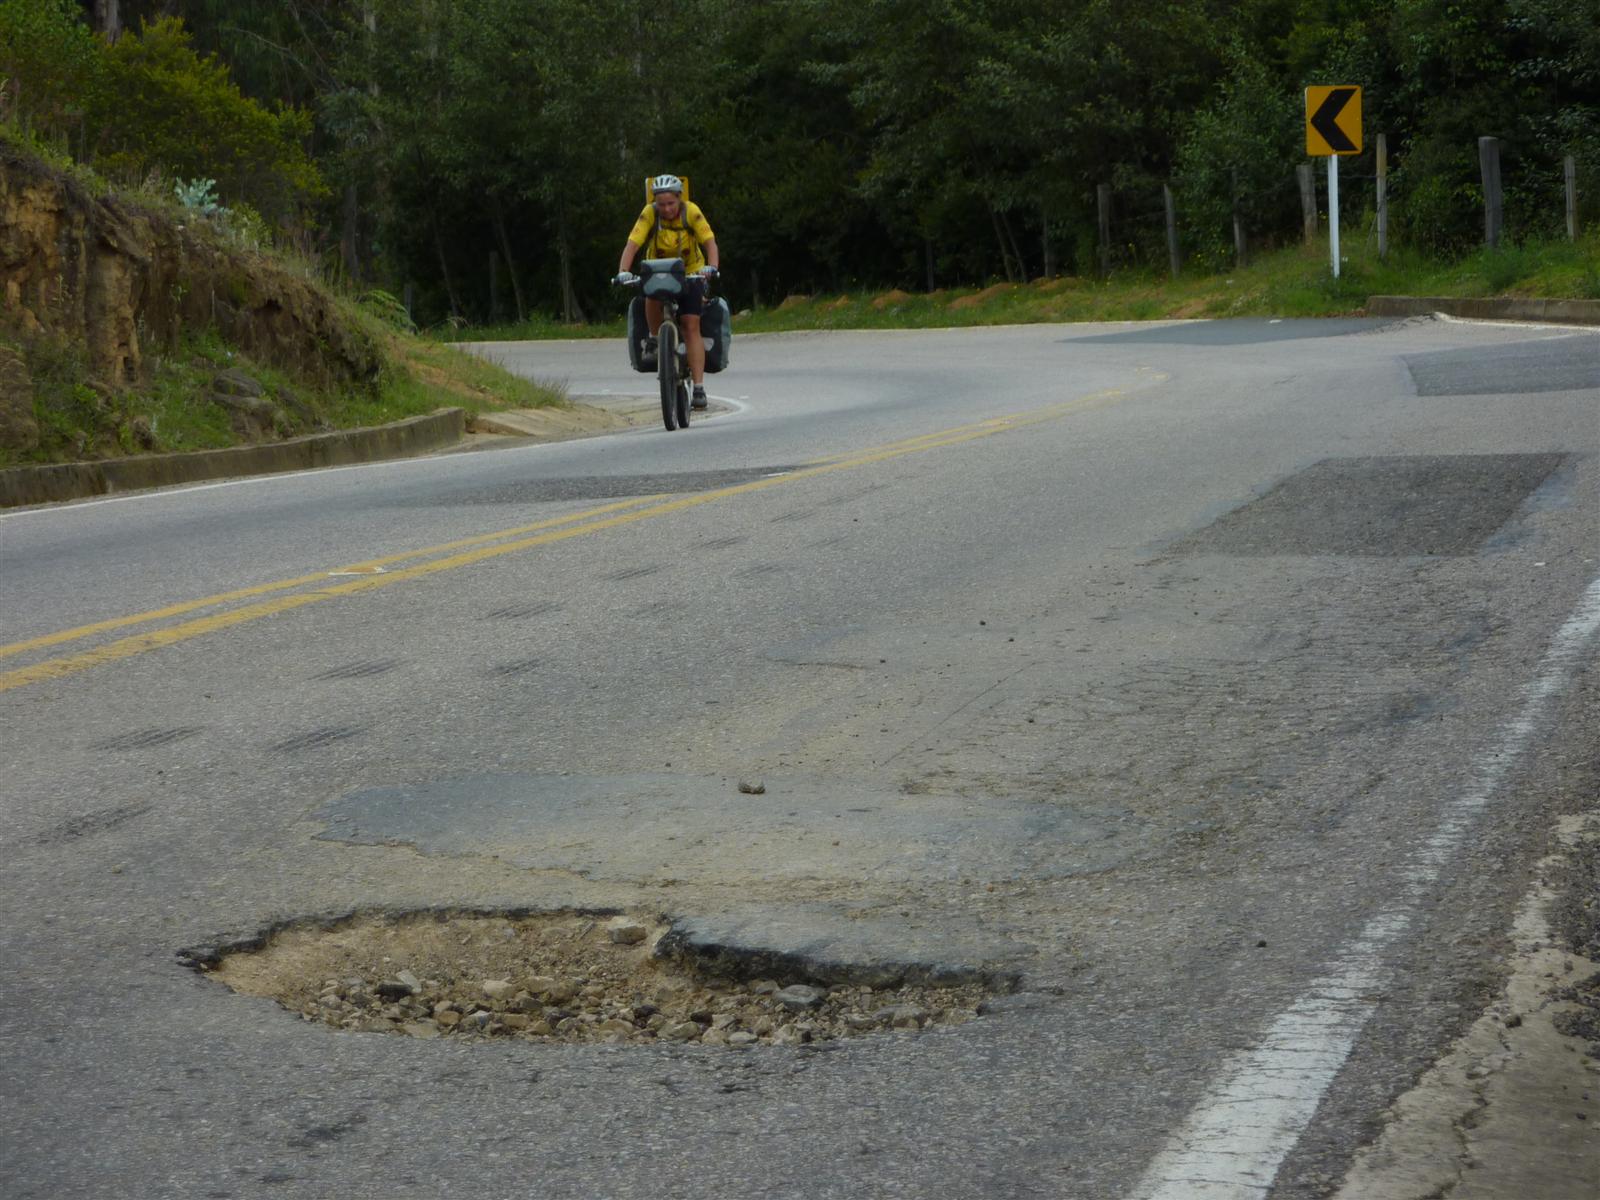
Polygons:
<instances>
[{"instance_id":1,"label":"dense dark green trees lining the background behind the cyclist","mask_svg":"<svg viewBox=\"0 0 1600 1200\"><path fill-rule=\"evenodd\" d=\"M1563 232L1568 154L1600 219L1600 0L125 0L110 51L50 19L90 8L0 0L14 120L296 210L422 322L614 314L661 170L691 178L739 306L1093 274L1101 184L1117 267L1165 264L1163 184L1186 258L1222 264L1235 211L1254 248L1299 237L1307 83L1363 86L1397 248L1480 240L1480 136L1514 240ZM139 32L158 16L192 48ZM216 136L181 144L178 109ZM1347 240L1373 176L1371 149L1342 163Z\"/></svg>"}]
</instances>

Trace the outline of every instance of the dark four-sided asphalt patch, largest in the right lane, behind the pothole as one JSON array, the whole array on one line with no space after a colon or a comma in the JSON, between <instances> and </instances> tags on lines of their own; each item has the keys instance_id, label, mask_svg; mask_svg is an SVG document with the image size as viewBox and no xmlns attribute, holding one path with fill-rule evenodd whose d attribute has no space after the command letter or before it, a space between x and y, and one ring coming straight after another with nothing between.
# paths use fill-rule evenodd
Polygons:
<instances>
[{"instance_id":1,"label":"dark four-sided asphalt patch, largest in the right lane, behind the pothole","mask_svg":"<svg viewBox=\"0 0 1600 1200\"><path fill-rule=\"evenodd\" d=\"M1565 454L1323 459L1176 549L1234 555L1470 555L1565 461Z\"/></svg>"}]
</instances>

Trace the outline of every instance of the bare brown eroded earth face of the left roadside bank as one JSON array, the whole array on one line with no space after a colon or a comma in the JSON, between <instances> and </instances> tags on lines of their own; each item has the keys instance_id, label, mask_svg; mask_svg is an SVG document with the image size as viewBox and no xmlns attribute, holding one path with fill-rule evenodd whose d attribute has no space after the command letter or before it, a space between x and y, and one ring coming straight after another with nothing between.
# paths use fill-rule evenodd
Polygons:
<instances>
[{"instance_id":1,"label":"bare brown eroded earth face of the left roadside bank","mask_svg":"<svg viewBox=\"0 0 1600 1200\"><path fill-rule=\"evenodd\" d=\"M75 347L96 389L139 387L152 358L200 331L314 390L371 387L384 366L333 296L285 264L205 218L96 195L5 142L0 290L0 333ZM0 448L38 437L24 358L0 346Z\"/></svg>"}]
</instances>

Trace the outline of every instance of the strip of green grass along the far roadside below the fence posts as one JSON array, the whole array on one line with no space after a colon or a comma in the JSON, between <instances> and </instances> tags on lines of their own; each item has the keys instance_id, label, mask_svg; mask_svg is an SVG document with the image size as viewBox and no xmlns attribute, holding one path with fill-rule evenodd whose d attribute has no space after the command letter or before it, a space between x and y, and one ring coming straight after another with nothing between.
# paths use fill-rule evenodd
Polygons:
<instances>
[{"instance_id":1,"label":"strip of green grass along the far roadside below the fence posts","mask_svg":"<svg viewBox=\"0 0 1600 1200\"><path fill-rule=\"evenodd\" d=\"M738 333L784 330L907 330L1040 322L1158 320L1166 317L1338 317L1360 312L1368 296L1547 296L1600 299L1600 232L1576 243L1547 242L1483 250L1453 262L1390 254L1357 245L1341 278L1328 270L1326 243L1262 254L1238 270L1208 274L1118 272L1109 282L1040 280L1027 285L949 288L931 294L888 291L790 296L744 314ZM445 331L442 339L509 341L610 338L621 318L590 325L533 320Z\"/></svg>"}]
</instances>

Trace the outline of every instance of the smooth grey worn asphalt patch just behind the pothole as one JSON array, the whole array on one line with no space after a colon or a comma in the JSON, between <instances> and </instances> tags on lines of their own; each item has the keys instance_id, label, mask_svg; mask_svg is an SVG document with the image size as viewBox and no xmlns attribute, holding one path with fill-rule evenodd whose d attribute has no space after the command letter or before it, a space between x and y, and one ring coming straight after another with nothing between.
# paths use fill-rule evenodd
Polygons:
<instances>
[{"instance_id":1,"label":"smooth grey worn asphalt patch just behind the pothole","mask_svg":"<svg viewBox=\"0 0 1600 1200\"><path fill-rule=\"evenodd\" d=\"M299 749L299 747L296 747ZM325 842L491 854L592 880L1069 878L1138 848L1125 813L1083 803L907 797L806 776L765 795L680 774L477 774L347 792L317 810Z\"/></svg>"}]
</instances>

